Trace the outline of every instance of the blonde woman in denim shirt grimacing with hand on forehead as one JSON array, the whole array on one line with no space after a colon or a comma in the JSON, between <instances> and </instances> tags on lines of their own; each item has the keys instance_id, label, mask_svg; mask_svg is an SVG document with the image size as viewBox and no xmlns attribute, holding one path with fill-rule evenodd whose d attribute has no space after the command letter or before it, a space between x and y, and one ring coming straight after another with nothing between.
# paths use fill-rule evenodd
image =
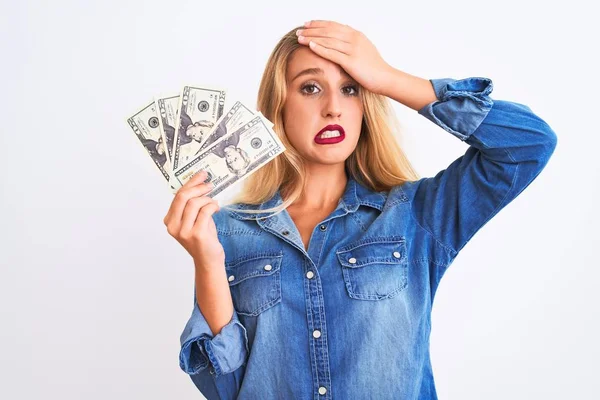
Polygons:
<instances>
[{"instance_id":1,"label":"blonde woman in denim shirt grimacing with hand on forehead","mask_svg":"<svg viewBox=\"0 0 600 400\"><path fill-rule=\"evenodd\" d=\"M180 366L206 398L437 398L440 279L557 143L527 106L491 91L486 78L399 71L335 22L281 39L258 108L288 150L248 177L235 207L205 196L199 173L164 220L195 263ZM387 98L467 143L465 154L416 177Z\"/></svg>"}]
</instances>

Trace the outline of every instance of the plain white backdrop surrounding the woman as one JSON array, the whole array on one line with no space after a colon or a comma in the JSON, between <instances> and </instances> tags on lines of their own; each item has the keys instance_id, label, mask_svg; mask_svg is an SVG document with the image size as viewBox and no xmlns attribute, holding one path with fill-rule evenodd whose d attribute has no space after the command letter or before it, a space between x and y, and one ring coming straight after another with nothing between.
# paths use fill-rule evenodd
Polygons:
<instances>
[{"instance_id":1,"label":"plain white backdrop surrounding the woman","mask_svg":"<svg viewBox=\"0 0 600 400\"><path fill-rule=\"evenodd\" d=\"M424 78L491 78L492 98L527 104L558 135L546 169L442 280L440 399L600 390L599 30L583 2L1 4L1 398L202 398L178 366L193 265L166 232L172 197L126 118L184 84L255 105L273 46L309 19L363 31ZM466 151L395 108L421 175Z\"/></svg>"}]
</instances>

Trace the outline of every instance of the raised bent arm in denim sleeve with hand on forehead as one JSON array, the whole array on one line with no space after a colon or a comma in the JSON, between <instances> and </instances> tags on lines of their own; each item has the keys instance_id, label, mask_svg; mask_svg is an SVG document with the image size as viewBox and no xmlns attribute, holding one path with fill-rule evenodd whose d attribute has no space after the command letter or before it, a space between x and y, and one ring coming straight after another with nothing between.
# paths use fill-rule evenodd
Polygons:
<instances>
[{"instance_id":1,"label":"raised bent arm in denim sleeve with hand on forehead","mask_svg":"<svg viewBox=\"0 0 600 400\"><path fill-rule=\"evenodd\" d=\"M538 176L554 152L557 138L548 124L525 105L493 101L489 79L436 79L428 86L391 67L362 32L335 21L309 21L296 34L298 43L339 64L363 88L418 110L469 145L435 177L407 185L416 189L416 222L444 253L456 256Z\"/></svg>"}]
</instances>

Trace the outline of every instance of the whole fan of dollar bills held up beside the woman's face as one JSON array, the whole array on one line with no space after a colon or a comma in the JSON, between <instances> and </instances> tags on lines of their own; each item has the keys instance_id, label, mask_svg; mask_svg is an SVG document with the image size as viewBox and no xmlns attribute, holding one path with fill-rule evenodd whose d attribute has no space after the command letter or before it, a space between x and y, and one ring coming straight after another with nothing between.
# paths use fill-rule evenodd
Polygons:
<instances>
[{"instance_id":1,"label":"whole fan of dollar bills held up beside the woman's face","mask_svg":"<svg viewBox=\"0 0 600 400\"><path fill-rule=\"evenodd\" d=\"M215 197L286 150L259 111L236 101L223 113L225 97L219 88L184 86L127 119L173 193L207 171L207 196Z\"/></svg>"}]
</instances>

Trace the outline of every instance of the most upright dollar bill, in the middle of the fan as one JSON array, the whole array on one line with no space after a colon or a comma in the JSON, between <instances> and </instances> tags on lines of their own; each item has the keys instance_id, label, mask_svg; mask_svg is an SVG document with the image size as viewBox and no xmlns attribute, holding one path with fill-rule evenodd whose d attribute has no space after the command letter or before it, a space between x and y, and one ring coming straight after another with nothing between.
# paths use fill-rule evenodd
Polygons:
<instances>
[{"instance_id":1,"label":"most upright dollar bill, in the middle of the fan","mask_svg":"<svg viewBox=\"0 0 600 400\"><path fill-rule=\"evenodd\" d=\"M214 87L184 86L177 109L173 143L173 171L198 155L216 122L223 115L225 91Z\"/></svg>"}]
</instances>

